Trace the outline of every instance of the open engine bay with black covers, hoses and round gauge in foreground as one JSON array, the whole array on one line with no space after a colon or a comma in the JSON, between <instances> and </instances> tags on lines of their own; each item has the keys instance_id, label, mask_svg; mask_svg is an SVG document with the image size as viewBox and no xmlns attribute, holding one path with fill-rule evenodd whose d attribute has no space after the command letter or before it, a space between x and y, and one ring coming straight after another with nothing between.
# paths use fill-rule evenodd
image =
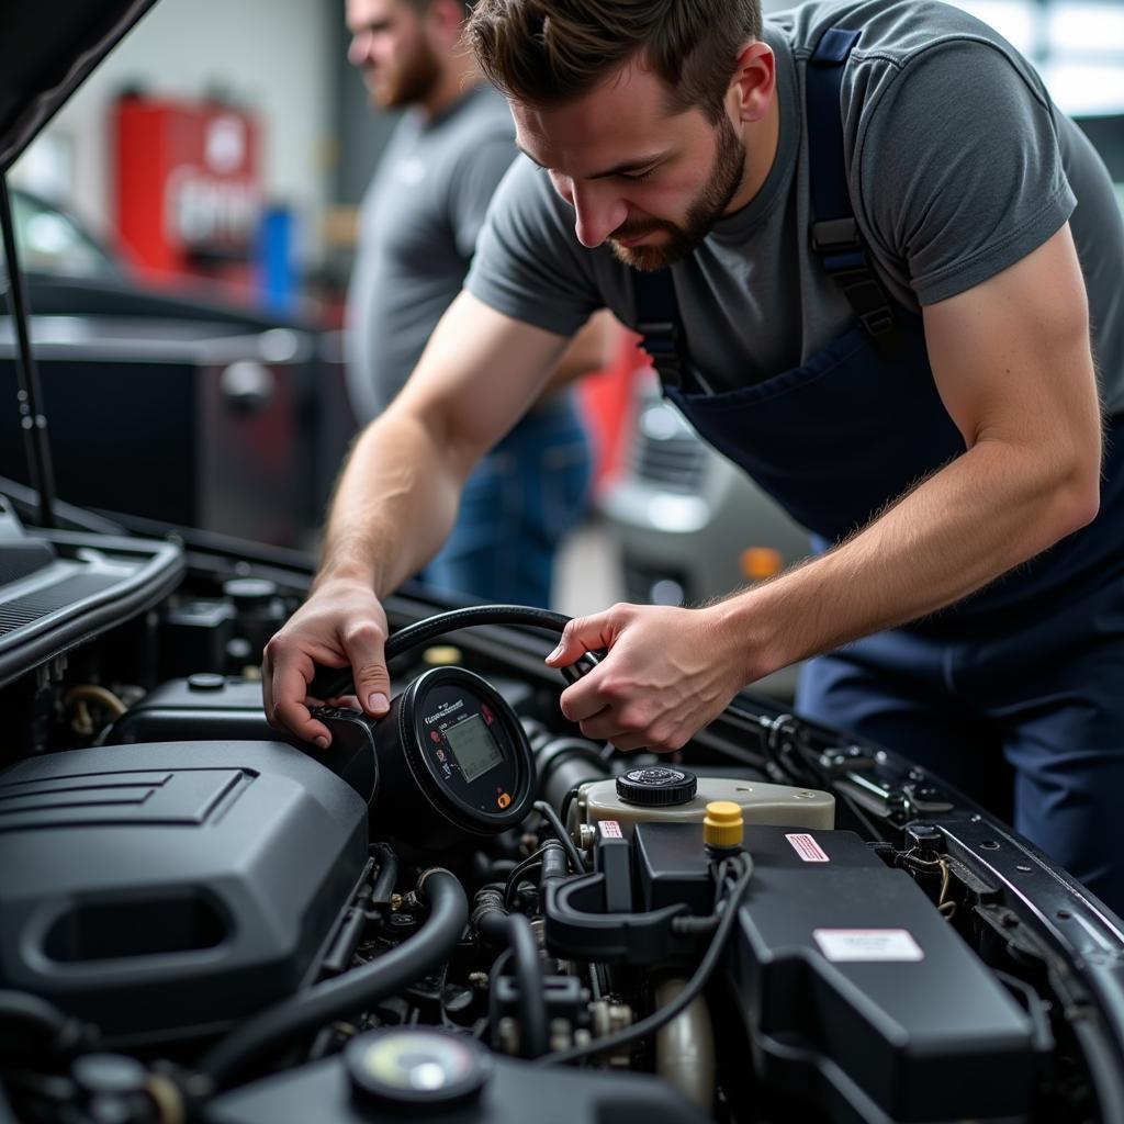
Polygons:
<instances>
[{"instance_id":1,"label":"open engine bay with black covers, hoses and round gauge in foreground","mask_svg":"<svg viewBox=\"0 0 1124 1124\"><path fill-rule=\"evenodd\" d=\"M9 606L129 592L0 637L0 1120L1121 1118L1115 918L907 755L750 692L620 753L564 618L409 588L324 753L256 680L307 566L15 523Z\"/></svg>"}]
</instances>

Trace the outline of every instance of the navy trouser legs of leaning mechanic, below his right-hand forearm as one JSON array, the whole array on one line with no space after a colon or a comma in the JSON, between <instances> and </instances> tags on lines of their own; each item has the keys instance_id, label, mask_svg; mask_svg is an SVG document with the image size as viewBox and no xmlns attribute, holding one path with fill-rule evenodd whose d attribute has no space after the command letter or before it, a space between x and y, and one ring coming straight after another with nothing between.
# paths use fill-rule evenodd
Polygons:
<instances>
[{"instance_id":1,"label":"navy trouser legs of leaning mechanic, below his right-hand forearm","mask_svg":"<svg viewBox=\"0 0 1124 1124\"><path fill-rule=\"evenodd\" d=\"M931 769L1124 916L1124 578L1025 615L812 660L797 709Z\"/></svg>"}]
</instances>

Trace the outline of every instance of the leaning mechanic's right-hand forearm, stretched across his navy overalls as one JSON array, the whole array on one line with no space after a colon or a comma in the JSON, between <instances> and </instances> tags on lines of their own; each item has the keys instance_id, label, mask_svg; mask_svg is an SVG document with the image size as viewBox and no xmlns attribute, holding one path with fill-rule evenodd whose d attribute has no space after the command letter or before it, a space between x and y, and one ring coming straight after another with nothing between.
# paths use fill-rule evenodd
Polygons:
<instances>
[{"instance_id":1,"label":"leaning mechanic's right-hand forearm, stretched across his navy overalls","mask_svg":"<svg viewBox=\"0 0 1124 1124\"><path fill-rule=\"evenodd\" d=\"M716 606L750 682L944 608L1089 522L1096 482L981 441L853 538Z\"/></svg>"}]
</instances>

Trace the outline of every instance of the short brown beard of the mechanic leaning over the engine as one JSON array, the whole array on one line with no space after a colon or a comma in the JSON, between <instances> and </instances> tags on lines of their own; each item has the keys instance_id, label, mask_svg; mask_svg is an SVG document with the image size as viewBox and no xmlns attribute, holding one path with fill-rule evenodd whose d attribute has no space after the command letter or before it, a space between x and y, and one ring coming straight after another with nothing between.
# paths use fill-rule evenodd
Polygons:
<instances>
[{"instance_id":1,"label":"short brown beard of the mechanic leaning over the engine","mask_svg":"<svg viewBox=\"0 0 1124 1124\"><path fill-rule=\"evenodd\" d=\"M725 114L719 118L717 147L710 178L687 208L682 225L649 218L624 223L609 235L609 246L617 260L637 270L662 270L681 262L722 218L745 174L745 145ZM623 246L617 238L636 238L662 230L668 239L654 246Z\"/></svg>"}]
</instances>

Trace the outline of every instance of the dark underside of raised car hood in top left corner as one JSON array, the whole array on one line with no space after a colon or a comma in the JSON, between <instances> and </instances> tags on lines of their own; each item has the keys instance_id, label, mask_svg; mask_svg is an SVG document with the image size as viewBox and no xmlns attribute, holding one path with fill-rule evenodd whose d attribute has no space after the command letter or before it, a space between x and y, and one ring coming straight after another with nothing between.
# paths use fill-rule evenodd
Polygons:
<instances>
[{"instance_id":1,"label":"dark underside of raised car hood in top left corner","mask_svg":"<svg viewBox=\"0 0 1124 1124\"><path fill-rule=\"evenodd\" d=\"M0 173L156 0L0 7Z\"/></svg>"}]
</instances>

